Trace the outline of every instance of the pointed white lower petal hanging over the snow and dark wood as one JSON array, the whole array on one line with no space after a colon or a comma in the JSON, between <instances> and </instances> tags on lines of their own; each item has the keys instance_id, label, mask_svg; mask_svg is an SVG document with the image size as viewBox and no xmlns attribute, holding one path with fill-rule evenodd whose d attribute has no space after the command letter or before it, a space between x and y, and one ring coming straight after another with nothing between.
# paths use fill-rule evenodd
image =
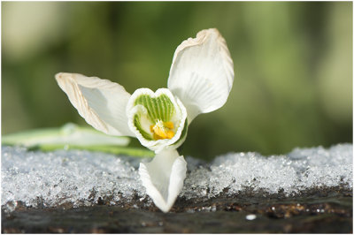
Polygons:
<instances>
[{"instance_id":1,"label":"pointed white lower petal hanging over the snow and dark wood","mask_svg":"<svg viewBox=\"0 0 354 235\"><path fill-rule=\"evenodd\" d=\"M140 163L142 186L163 212L172 208L186 178L187 163L176 150L165 150L150 163Z\"/></svg>"}]
</instances>

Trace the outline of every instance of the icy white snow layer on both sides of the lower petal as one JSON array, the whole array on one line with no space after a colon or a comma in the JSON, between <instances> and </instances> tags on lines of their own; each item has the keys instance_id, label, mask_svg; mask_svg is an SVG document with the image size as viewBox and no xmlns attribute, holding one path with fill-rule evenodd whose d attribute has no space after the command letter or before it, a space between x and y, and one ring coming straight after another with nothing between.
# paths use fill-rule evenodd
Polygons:
<instances>
[{"instance_id":1,"label":"icy white snow layer on both sides of the lower petal","mask_svg":"<svg viewBox=\"0 0 354 235\"><path fill-rule=\"evenodd\" d=\"M213 198L244 190L293 195L319 186L352 190L352 145L296 148L288 155L229 153L212 163L187 157L189 171L180 197ZM79 150L33 152L2 148L1 204L92 206L150 201L138 175L148 158Z\"/></svg>"}]
</instances>

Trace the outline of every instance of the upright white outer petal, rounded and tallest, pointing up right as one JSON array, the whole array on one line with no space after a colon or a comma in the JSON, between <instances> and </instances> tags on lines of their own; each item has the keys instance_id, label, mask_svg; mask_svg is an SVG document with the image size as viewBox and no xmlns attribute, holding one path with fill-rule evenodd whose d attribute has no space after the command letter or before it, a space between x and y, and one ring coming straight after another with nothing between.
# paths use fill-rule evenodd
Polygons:
<instances>
[{"instance_id":1,"label":"upright white outer petal, rounded and tallest, pointing up right","mask_svg":"<svg viewBox=\"0 0 354 235\"><path fill-rule=\"evenodd\" d=\"M233 82L234 64L217 29L200 31L174 52L167 87L186 106L189 123L223 106Z\"/></svg>"}]
</instances>

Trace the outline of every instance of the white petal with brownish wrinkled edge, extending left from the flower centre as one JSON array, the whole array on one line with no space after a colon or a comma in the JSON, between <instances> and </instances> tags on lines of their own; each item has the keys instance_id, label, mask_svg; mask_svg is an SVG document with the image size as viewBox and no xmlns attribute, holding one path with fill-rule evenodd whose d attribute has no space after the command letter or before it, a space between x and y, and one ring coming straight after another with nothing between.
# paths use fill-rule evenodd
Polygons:
<instances>
[{"instance_id":1,"label":"white petal with brownish wrinkled edge, extending left from the flower centre","mask_svg":"<svg viewBox=\"0 0 354 235\"><path fill-rule=\"evenodd\" d=\"M127 125L126 107L130 94L117 83L59 72L58 85L89 125L111 135L135 136Z\"/></svg>"}]
</instances>

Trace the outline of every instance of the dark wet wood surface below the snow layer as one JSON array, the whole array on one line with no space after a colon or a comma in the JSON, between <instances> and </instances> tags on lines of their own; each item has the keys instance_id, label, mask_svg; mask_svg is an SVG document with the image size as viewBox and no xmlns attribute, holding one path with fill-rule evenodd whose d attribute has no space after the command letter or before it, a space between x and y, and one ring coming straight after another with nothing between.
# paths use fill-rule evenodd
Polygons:
<instances>
[{"instance_id":1,"label":"dark wet wood surface below the snow layer","mask_svg":"<svg viewBox=\"0 0 354 235\"><path fill-rule=\"evenodd\" d=\"M352 192L319 189L283 197L243 193L213 199L179 198L169 213L149 200L72 208L2 209L4 233L352 233ZM254 220L246 216L256 215Z\"/></svg>"}]
</instances>

